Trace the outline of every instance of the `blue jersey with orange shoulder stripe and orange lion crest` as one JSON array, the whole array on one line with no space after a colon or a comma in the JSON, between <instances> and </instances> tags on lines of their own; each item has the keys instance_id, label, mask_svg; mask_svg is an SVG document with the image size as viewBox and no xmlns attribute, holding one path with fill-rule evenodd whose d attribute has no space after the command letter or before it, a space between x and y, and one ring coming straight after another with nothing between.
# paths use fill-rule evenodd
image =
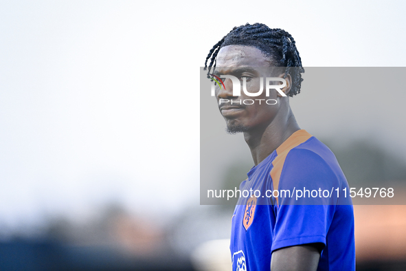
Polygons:
<instances>
[{"instance_id":1,"label":"blue jersey with orange shoulder stripe and orange lion crest","mask_svg":"<svg viewBox=\"0 0 406 271\"><path fill-rule=\"evenodd\" d=\"M296 131L247 175L232 217L232 270L270 270L274 250L306 243L323 246L317 270L355 270L348 182L326 145Z\"/></svg>"}]
</instances>

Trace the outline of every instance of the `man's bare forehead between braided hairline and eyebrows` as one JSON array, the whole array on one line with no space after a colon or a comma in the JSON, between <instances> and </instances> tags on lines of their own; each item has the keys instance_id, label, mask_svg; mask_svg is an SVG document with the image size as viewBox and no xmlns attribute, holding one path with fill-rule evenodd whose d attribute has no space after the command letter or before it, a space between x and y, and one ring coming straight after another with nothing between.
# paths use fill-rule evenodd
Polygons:
<instances>
[{"instance_id":1,"label":"man's bare forehead between braided hairline and eyebrows","mask_svg":"<svg viewBox=\"0 0 406 271\"><path fill-rule=\"evenodd\" d=\"M269 67L271 61L253 46L228 45L217 54L216 67Z\"/></svg>"}]
</instances>

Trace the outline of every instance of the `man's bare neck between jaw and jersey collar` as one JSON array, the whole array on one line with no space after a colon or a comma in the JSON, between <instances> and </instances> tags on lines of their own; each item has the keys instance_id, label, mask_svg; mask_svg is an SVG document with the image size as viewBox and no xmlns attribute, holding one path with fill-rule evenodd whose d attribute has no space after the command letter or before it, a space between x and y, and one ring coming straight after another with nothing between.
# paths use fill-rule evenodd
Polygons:
<instances>
[{"instance_id":1,"label":"man's bare neck between jaw and jersey collar","mask_svg":"<svg viewBox=\"0 0 406 271\"><path fill-rule=\"evenodd\" d=\"M280 112L270 124L244 133L255 165L267 158L295 131L300 130L290 107L288 110L288 113Z\"/></svg>"}]
</instances>

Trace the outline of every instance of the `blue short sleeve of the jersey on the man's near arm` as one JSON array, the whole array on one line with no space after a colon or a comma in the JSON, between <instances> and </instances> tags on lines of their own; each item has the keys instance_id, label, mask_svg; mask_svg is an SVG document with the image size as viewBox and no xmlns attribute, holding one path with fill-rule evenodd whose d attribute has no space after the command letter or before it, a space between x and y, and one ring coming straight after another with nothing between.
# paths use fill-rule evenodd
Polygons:
<instances>
[{"instance_id":1,"label":"blue short sleeve of the jersey on the man's near arm","mask_svg":"<svg viewBox=\"0 0 406 271\"><path fill-rule=\"evenodd\" d=\"M291 197L278 198L271 251L306 243L326 246L338 187L337 176L317 153L307 149L289 151L278 190L290 191Z\"/></svg>"}]
</instances>

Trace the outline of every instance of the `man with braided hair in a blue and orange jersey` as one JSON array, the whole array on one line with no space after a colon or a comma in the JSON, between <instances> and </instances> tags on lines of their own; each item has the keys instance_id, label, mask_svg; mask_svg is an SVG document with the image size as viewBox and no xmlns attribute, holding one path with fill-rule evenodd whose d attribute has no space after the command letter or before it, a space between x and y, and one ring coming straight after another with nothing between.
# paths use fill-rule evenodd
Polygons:
<instances>
[{"instance_id":1,"label":"man with braided hair in a blue and orange jersey","mask_svg":"<svg viewBox=\"0 0 406 271\"><path fill-rule=\"evenodd\" d=\"M223 77L215 94L227 130L243 132L255 164L240 191L258 193L240 197L232 217L232 270L355 270L351 199L339 194L349 191L346 177L289 106L304 72L293 37L260 23L241 25L214 45L207 67L212 78ZM233 91L232 76L244 91ZM286 86L261 93L264 78L283 78Z\"/></svg>"}]
</instances>

